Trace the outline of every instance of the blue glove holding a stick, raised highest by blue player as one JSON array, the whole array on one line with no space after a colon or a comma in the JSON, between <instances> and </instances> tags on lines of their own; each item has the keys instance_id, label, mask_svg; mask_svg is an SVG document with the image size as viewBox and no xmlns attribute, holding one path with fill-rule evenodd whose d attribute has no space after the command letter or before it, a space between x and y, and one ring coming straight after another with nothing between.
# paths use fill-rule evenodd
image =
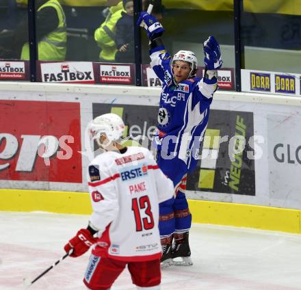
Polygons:
<instances>
[{"instance_id":1,"label":"blue glove holding a stick, raised highest by blue player","mask_svg":"<svg viewBox=\"0 0 301 290\"><path fill-rule=\"evenodd\" d=\"M143 27L147 31L147 36L150 40L161 36L164 31L161 23L159 23L153 15L150 15L145 11L140 12L137 25Z\"/></svg>"}]
</instances>

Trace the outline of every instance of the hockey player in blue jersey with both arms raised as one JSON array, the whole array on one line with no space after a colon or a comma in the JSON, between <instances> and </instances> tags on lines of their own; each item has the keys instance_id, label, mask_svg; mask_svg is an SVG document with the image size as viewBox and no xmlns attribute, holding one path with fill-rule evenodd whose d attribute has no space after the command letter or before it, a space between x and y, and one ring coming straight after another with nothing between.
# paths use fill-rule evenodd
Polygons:
<instances>
[{"instance_id":1,"label":"hockey player in blue jersey with both arms raised","mask_svg":"<svg viewBox=\"0 0 301 290\"><path fill-rule=\"evenodd\" d=\"M196 168L200 142L209 120L209 107L218 88L218 68L222 57L218 42L210 36L204 42L205 75L196 77L197 59L192 51L179 51L173 57L164 48L161 23L141 12L138 25L150 40L151 66L163 82L154 146L157 163L174 183L176 198L161 202L159 230L163 266L192 265L189 229L192 215L185 197L186 175ZM181 261L173 259L181 257Z\"/></svg>"}]
</instances>

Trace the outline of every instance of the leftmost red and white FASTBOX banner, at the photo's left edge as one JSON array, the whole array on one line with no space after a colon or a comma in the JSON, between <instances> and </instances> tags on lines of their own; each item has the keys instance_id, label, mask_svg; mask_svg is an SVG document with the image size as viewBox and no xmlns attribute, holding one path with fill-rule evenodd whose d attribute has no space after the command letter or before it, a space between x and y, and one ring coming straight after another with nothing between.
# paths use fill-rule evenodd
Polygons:
<instances>
[{"instance_id":1,"label":"leftmost red and white FASTBOX banner, at the photo's left edge","mask_svg":"<svg viewBox=\"0 0 301 290\"><path fill-rule=\"evenodd\" d=\"M1 60L0 80L29 81L29 62Z\"/></svg>"}]
</instances>

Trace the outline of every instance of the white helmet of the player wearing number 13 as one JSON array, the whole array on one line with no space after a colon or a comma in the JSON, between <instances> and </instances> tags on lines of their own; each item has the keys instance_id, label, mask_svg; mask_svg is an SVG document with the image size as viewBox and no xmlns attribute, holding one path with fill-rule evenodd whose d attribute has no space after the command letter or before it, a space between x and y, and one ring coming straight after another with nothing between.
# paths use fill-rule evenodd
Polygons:
<instances>
[{"instance_id":1,"label":"white helmet of the player wearing number 13","mask_svg":"<svg viewBox=\"0 0 301 290\"><path fill-rule=\"evenodd\" d=\"M105 134L109 142L117 141L125 131L125 123L120 116L116 114L103 114L92 120L89 124L90 137L96 139L96 142L101 146L101 134Z\"/></svg>"}]
</instances>

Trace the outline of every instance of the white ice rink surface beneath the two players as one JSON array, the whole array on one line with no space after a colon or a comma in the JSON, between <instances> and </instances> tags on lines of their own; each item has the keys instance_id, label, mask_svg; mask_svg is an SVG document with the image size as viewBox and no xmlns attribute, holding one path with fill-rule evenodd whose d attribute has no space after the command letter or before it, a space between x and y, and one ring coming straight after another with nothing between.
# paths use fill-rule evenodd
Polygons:
<instances>
[{"instance_id":1,"label":"white ice rink surface beneath the two players","mask_svg":"<svg viewBox=\"0 0 301 290\"><path fill-rule=\"evenodd\" d=\"M86 215L0 212L0 290L24 289L64 255L64 244L87 226ZM301 289L301 235L193 224L191 267L162 271L162 290ZM29 289L79 290L89 254L67 258ZM135 289L127 270L112 290Z\"/></svg>"}]
</instances>

